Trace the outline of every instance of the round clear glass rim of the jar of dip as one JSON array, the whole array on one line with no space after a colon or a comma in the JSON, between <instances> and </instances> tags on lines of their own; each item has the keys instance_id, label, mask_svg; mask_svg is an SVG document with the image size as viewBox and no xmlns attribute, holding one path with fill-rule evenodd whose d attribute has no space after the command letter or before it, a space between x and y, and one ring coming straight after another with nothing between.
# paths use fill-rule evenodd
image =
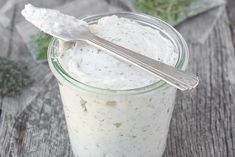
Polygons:
<instances>
[{"instance_id":1,"label":"round clear glass rim of the jar of dip","mask_svg":"<svg viewBox=\"0 0 235 157\"><path fill-rule=\"evenodd\" d=\"M170 24L162 21L159 18L152 17L152 16L142 14L142 13L135 13L135 12L113 12L113 13L103 13L103 14L86 16L82 18L82 20L88 22L89 24L91 22L94 22L95 20L97 21L98 19L102 17L112 16L112 15L117 15L118 17L129 18L131 20L136 20L137 22L143 22L145 24L154 26L155 29L157 28L156 24L160 25L161 28L158 26L158 29L161 29L161 31L164 34L166 33L168 37L170 37L171 39L174 36L174 39L172 39L172 42L175 43L175 46L177 46L178 51L179 51L178 52L179 55L178 55L178 59L175 64L175 67L181 70L185 70L188 64L188 58L189 58L189 51L188 51L186 41L175 28L173 28ZM55 77L61 84L66 84L75 89L84 90L84 91L93 92L93 93L102 94L102 95L135 95L135 94L146 93L152 90L157 90L166 86L170 86L162 80L159 80L157 82L154 82L144 87L134 88L134 89L125 89L125 90L104 89L104 88L98 88L98 87L85 84L73 78L61 66L61 64L58 61L58 58L56 57L56 52L55 52L56 44L58 44L58 40L53 38L49 44L47 56L48 56L49 67L52 73L55 75Z\"/></svg>"}]
</instances>

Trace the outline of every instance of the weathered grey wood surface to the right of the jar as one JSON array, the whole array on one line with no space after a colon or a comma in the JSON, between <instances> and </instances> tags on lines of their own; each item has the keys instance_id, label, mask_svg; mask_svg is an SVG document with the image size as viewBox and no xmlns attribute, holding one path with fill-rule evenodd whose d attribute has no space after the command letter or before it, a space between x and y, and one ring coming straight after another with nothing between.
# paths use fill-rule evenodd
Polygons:
<instances>
[{"instance_id":1,"label":"weathered grey wood surface to the right of the jar","mask_svg":"<svg viewBox=\"0 0 235 157\"><path fill-rule=\"evenodd\" d=\"M178 92L165 157L235 156L235 56L223 19L205 44L189 44L200 84Z\"/></svg>"}]
</instances>

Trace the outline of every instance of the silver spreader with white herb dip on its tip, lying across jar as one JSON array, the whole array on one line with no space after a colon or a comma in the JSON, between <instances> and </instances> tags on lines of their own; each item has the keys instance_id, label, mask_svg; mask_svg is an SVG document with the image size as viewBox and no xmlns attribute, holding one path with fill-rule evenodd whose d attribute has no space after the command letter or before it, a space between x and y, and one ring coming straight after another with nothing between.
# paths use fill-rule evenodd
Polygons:
<instances>
[{"instance_id":1,"label":"silver spreader with white herb dip on its tip, lying across jar","mask_svg":"<svg viewBox=\"0 0 235 157\"><path fill-rule=\"evenodd\" d=\"M91 33L88 25L75 17L57 10L36 8L27 4L22 15L42 31L63 41L85 41L105 52L152 73L168 84L182 90L195 88L198 77L175 67L148 58L127 48L116 45Z\"/></svg>"}]
</instances>

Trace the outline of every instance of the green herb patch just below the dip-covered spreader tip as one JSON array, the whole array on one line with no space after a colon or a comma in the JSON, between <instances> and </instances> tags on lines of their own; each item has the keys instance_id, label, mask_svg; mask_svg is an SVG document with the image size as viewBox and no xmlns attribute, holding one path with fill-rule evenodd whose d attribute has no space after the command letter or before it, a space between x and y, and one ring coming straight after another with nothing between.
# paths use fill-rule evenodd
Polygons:
<instances>
[{"instance_id":1,"label":"green herb patch just below the dip-covered spreader tip","mask_svg":"<svg viewBox=\"0 0 235 157\"><path fill-rule=\"evenodd\" d=\"M31 37L29 47L37 60L44 60L47 57L47 48L49 46L51 36L43 32L39 32Z\"/></svg>"}]
</instances>

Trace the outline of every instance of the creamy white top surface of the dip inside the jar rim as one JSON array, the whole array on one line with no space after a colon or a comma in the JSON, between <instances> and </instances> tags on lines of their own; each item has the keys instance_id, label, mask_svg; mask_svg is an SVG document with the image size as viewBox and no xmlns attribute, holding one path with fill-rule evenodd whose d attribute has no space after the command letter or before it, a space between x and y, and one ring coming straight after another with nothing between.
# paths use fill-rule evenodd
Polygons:
<instances>
[{"instance_id":1,"label":"creamy white top surface of the dip inside the jar rim","mask_svg":"<svg viewBox=\"0 0 235 157\"><path fill-rule=\"evenodd\" d=\"M91 32L115 44L174 66L178 54L160 31L117 16L101 18ZM93 46L78 42L63 62L77 80L104 89L134 89L159 81L156 76Z\"/></svg>"}]
</instances>

